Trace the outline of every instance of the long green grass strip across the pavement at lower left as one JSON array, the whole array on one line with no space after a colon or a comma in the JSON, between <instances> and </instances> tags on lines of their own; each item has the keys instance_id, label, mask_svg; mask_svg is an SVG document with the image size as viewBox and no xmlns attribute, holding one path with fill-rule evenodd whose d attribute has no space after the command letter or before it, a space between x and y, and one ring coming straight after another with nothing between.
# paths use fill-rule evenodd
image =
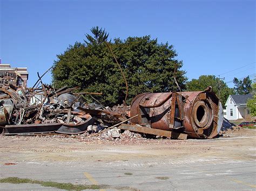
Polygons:
<instances>
[{"instance_id":1,"label":"long green grass strip across the pavement at lower left","mask_svg":"<svg viewBox=\"0 0 256 191\"><path fill-rule=\"evenodd\" d=\"M60 182L52 182L52 181L41 181L41 180L33 180L33 179L21 179L18 177L8 177L4 179L0 179L0 183L32 183L38 184L44 187L52 187L59 188L65 190L84 190L84 189L102 189L106 188L106 186L100 185L73 185L72 183L60 183Z\"/></svg>"}]
</instances>

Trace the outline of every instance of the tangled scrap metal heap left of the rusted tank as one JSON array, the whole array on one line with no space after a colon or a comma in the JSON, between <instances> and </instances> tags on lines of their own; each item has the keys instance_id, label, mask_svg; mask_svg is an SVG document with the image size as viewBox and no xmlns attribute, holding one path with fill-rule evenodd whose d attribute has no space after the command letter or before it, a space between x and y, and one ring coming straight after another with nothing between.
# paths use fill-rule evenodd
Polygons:
<instances>
[{"instance_id":1,"label":"tangled scrap metal heap left of the rusted tank","mask_svg":"<svg viewBox=\"0 0 256 191\"><path fill-rule=\"evenodd\" d=\"M127 119L127 107L97 110L93 105L79 102L79 96L71 93L75 89L55 90L43 83L39 88L1 84L0 125L4 135L42 132L72 135L85 132L90 124L98 122L106 126Z\"/></svg>"}]
</instances>

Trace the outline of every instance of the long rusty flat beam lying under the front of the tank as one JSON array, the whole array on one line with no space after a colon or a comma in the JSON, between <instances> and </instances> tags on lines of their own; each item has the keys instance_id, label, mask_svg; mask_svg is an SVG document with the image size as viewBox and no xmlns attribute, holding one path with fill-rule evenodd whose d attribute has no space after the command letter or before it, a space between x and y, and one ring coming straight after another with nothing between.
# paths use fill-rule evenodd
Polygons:
<instances>
[{"instance_id":1,"label":"long rusty flat beam lying under the front of the tank","mask_svg":"<svg viewBox=\"0 0 256 191\"><path fill-rule=\"evenodd\" d=\"M143 126L138 126L138 125L122 124L118 128L123 129L123 130L134 131L134 132L169 137L172 139L182 139L182 140L187 139L187 135L184 133L177 133L177 132L165 131L165 130L160 130L160 129L145 128Z\"/></svg>"}]
</instances>

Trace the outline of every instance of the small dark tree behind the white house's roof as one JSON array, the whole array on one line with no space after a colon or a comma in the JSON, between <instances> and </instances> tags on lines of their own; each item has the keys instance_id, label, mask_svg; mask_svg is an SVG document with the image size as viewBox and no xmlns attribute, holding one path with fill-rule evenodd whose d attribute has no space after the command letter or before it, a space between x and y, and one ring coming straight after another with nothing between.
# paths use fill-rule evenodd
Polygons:
<instances>
[{"instance_id":1,"label":"small dark tree behind the white house's roof","mask_svg":"<svg viewBox=\"0 0 256 191\"><path fill-rule=\"evenodd\" d=\"M233 82L235 94L246 95L252 91L252 80L249 76L242 80L238 80L237 77L234 77Z\"/></svg>"}]
</instances>

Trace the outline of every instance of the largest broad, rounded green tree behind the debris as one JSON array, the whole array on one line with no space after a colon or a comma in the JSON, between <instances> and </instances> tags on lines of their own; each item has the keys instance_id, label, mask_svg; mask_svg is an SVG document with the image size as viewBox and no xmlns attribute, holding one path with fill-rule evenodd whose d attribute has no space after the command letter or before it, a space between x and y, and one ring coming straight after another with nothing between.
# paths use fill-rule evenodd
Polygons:
<instances>
[{"instance_id":1,"label":"largest broad, rounded green tree behind the debris","mask_svg":"<svg viewBox=\"0 0 256 191\"><path fill-rule=\"evenodd\" d=\"M110 45L128 82L127 104L140 93L178 90L173 79L175 68L179 86L185 89L185 72L180 70L183 62L176 59L177 53L168 43L159 44L157 39L145 36L114 39ZM105 43L77 42L57 58L52 70L53 86L79 86L79 91L102 92L97 99L105 105L123 103L125 82Z\"/></svg>"}]
</instances>

